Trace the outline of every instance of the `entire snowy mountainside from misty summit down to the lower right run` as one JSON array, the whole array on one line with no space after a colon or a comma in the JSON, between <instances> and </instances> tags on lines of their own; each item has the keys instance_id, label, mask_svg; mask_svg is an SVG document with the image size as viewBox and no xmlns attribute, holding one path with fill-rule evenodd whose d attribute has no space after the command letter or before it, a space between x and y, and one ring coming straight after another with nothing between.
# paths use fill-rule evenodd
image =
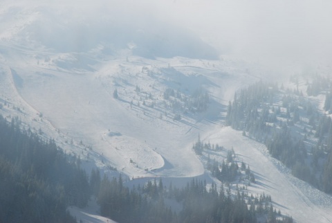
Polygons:
<instances>
[{"instance_id":1,"label":"entire snowy mountainside from misty summit down to the lower right run","mask_svg":"<svg viewBox=\"0 0 332 223\"><path fill-rule=\"evenodd\" d=\"M228 101L261 78L259 68L215 56L199 38L173 33L169 24L163 26L165 40L149 29L156 24L131 24L125 16L113 22L111 13L88 13L87 23L68 13L75 12L74 3L35 3L0 3L1 115L17 116L44 139L55 139L80 156L88 172L98 167L115 175L111 166L133 184L150 177L209 177L192 150L200 134L203 141L233 147L237 159L250 165L257 179L248 186L251 193L271 195L275 207L296 222L332 222L330 195L292 177L264 145L222 124ZM172 109L163 97L169 88L183 96L207 89L208 110ZM176 114L181 120L174 120ZM111 222L98 216L96 204L89 207L69 211L84 222Z\"/></svg>"}]
</instances>

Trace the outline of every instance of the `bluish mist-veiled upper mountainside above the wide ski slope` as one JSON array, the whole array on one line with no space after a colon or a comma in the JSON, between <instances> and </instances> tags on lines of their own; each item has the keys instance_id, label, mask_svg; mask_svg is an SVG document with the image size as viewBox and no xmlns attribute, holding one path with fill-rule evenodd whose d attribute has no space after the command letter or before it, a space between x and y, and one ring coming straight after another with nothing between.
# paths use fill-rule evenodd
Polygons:
<instances>
[{"instance_id":1,"label":"bluish mist-veiled upper mountainside above the wide ski slope","mask_svg":"<svg viewBox=\"0 0 332 223\"><path fill-rule=\"evenodd\" d=\"M133 10L125 2L96 1L78 7L73 2L61 7L14 3L2 12L5 29L1 34L8 42L53 53L100 51L113 55L128 51L129 55L147 58L218 58L216 49L191 30L160 19L157 12L139 3L133 3L131 7L139 6ZM11 22L15 28L6 26Z\"/></svg>"}]
</instances>

